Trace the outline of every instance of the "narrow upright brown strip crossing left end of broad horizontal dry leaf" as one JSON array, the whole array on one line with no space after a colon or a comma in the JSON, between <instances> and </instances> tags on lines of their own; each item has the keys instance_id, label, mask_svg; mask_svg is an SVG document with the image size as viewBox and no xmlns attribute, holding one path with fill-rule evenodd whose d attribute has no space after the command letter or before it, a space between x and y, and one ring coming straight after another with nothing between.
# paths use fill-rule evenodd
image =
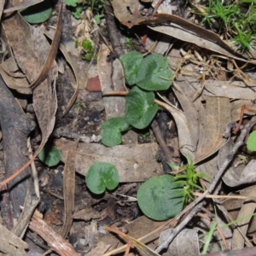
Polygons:
<instances>
[{"instance_id":1,"label":"narrow upright brown strip crossing left end of broad horizontal dry leaf","mask_svg":"<svg viewBox=\"0 0 256 256\"><path fill-rule=\"evenodd\" d=\"M68 150L67 162L64 168L63 179L63 197L64 197L64 224L61 229L61 236L66 238L72 222L74 210L74 194L75 194L75 158L76 148L79 139L73 143L73 147Z\"/></svg>"}]
</instances>

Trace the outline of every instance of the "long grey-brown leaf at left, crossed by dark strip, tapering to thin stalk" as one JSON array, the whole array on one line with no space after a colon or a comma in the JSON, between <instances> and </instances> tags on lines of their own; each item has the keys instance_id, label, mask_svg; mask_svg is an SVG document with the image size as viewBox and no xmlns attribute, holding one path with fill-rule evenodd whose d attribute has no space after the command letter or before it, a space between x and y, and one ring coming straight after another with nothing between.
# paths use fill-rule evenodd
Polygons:
<instances>
[{"instance_id":1,"label":"long grey-brown leaf at left, crossed by dark strip, tapering to thin stalk","mask_svg":"<svg viewBox=\"0 0 256 256\"><path fill-rule=\"evenodd\" d=\"M59 20L61 20L61 9L62 3L60 5L60 15L58 16ZM58 25L60 24L61 23L58 22ZM38 29L29 26L25 20L20 17L19 13L15 13L15 15L11 15L8 19L5 19L3 21L3 26L19 67L26 73L26 78L30 82L36 81L42 69L41 67L44 66L44 63L47 60L46 54L49 52L48 41ZM60 36L60 33L57 32L57 35ZM20 41L24 42L24 44L20 44ZM20 172L23 172L26 167L35 160L53 131L55 125L55 112L57 109L55 93L55 79L57 73L57 65L54 62L48 77L33 90L33 107L42 131L42 140L37 151L25 166L20 167L15 174L0 183L0 186L3 186L5 183L8 183L10 180L17 177Z\"/></svg>"}]
</instances>

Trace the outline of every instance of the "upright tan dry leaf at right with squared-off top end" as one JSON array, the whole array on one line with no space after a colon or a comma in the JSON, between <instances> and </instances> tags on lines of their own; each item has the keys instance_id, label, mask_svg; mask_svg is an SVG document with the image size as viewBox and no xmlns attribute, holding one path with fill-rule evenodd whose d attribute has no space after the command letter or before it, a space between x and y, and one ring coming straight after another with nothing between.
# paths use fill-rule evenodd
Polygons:
<instances>
[{"instance_id":1,"label":"upright tan dry leaf at right with squared-off top end","mask_svg":"<svg viewBox=\"0 0 256 256\"><path fill-rule=\"evenodd\" d=\"M208 96L203 140L195 154L195 163L206 159L224 145L226 140L223 138L223 132L228 123L230 123L230 100Z\"/></svg>"}]
</instances>

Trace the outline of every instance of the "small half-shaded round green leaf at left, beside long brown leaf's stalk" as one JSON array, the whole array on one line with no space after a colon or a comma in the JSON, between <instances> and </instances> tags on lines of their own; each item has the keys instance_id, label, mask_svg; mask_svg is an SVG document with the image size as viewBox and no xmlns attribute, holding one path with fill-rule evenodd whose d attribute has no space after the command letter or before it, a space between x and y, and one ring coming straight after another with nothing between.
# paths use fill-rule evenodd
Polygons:
<instances>
[{"instance_id":1,"label":"small half-shaded round green leaf at left, beside long brown leaf's stalk","mask_svg":"<svg viewBox=\"0 0 256 256\"><path fill-rule=\"evenodd\" d=\"M61 152L56 147L44 146L38 154L39 160L41 160L46 166L55 166L61 160Z\"/></svg>"}]
</instances>

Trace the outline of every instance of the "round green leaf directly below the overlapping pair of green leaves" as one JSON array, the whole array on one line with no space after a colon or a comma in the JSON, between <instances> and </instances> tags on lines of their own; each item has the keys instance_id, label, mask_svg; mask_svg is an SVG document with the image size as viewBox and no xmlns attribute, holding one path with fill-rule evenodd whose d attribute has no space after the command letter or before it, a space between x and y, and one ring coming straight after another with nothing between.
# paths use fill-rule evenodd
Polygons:
<instances>
[{"instance_id":1,"label":"round green leaf directly below the overlapping pair of green leaves","mask_svg":"<svg viewBox=\"0 0 256 256\"><path fill-rule=\"evenodd\" d=\"M137 87L126 95L125 107L126 122L137 129L147 127L158 110L158 105L154 103L154 92Z\"/></svg>"}]
</instances>

